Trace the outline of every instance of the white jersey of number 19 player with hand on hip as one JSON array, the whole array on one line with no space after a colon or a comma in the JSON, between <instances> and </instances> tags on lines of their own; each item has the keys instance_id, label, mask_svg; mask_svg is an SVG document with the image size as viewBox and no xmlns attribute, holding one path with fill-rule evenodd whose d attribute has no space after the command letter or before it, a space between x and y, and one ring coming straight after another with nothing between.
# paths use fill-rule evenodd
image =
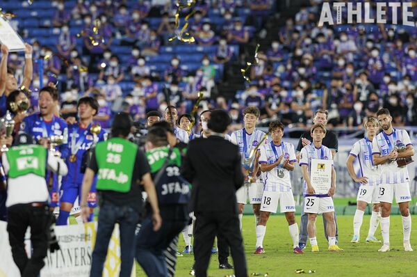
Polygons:
<instances>
[{"instance_id":1,"label":"white jersey of number 19 player with hand on hip","mask_svg":"<svg viewBox=\"0 0 417 277\"><path fill-rule=\"evenodd\" d=\"M360 139L354 143L349 155L357 158L354 161L357 177L367 177L370 186L377 186L381 182L381 166L373 165L372 141Z\"/></svg>"}]
</instances>

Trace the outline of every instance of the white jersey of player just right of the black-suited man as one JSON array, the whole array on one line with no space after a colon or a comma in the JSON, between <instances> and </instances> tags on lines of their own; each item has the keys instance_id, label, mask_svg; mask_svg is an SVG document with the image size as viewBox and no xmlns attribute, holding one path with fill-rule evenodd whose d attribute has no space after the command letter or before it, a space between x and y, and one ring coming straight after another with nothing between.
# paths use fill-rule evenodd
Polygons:
<instances>
[{"instance_id":1,"label":"white jersey of player just right of the black-suited man","mask_svg":"<svg viewBox=\"0 0 417 277\"><path fill-rule=\"evenodd\" d=\"M230 141L231 143L239 146L240 155L242 156L242 164L245 161L245 157L249 157L250 151L252 148L256 147L256 145L258 145L263 136L265 136L265 133L256 128L252 134L247 134L245 128L231 133ZM264 141L265 145L268 144L267 141L268 138Z\"/></svg>"}]
</instances>

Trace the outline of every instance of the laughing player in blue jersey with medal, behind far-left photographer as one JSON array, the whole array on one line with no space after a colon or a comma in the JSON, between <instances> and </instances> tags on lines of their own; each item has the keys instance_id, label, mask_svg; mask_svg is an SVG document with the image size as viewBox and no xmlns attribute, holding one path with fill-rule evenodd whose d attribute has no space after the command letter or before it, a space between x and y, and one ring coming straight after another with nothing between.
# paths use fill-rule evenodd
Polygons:
<instances>
[{"instance_id":1,"label":"laughing player in blue jersey with medal, behind far-left photographer","mask_svg":"<svg viewBox=\"0 0 417 277\"><path fill-rule=\"evenodd\" d=\"M39 92L39 112L27 116L20 124L21 132L33 136L37 143L42 144L44 140L49 140L51 136L63 136L63 144L56 147L60 152L60 157L66 159L68 156L68 127L65 120L54 115L58 92L55 88L45 86ZM58 207L59 185L58 176L47 173L47 183L51 186L51 207Z\"/></svg>"}]
</instances>

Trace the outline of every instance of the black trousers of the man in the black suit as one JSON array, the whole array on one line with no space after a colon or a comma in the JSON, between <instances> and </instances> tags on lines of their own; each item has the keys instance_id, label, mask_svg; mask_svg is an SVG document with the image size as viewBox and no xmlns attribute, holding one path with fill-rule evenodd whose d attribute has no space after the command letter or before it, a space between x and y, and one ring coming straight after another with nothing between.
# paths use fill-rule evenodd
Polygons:
<instances>
[{"instance_id":1,"label":"black trousers of the man in the black suit","mask_svg":"<svg viewBox=\"0 0 417 277\"><path fill-rule=\"evenodd\" d=\"M230 246L236 277L247 277L245 249L239 228L238 214L195 212L194 257L195 276L206 277L214 237L224 237ZM219 254L220 255L220 254Z\"/></svg>"}]
</instances>

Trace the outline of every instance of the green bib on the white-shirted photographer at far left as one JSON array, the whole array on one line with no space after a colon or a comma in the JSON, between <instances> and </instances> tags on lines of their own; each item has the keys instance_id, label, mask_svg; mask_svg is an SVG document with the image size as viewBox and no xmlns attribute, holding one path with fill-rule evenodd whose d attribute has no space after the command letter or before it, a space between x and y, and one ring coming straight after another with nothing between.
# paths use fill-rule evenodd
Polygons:
<instances>
[{"instance_id":1,"label":"green bib on the white-shirted photographer at far left","mask_svg":"<svg viewBox=\"0 0 417 277\"><path fill-rule=\"evenodd\" d=\"M45 177L47 150L41 145L15 146L5 154L10 165L8 177L16 178L30 173Z\"/></svg>"}]
</instances>

